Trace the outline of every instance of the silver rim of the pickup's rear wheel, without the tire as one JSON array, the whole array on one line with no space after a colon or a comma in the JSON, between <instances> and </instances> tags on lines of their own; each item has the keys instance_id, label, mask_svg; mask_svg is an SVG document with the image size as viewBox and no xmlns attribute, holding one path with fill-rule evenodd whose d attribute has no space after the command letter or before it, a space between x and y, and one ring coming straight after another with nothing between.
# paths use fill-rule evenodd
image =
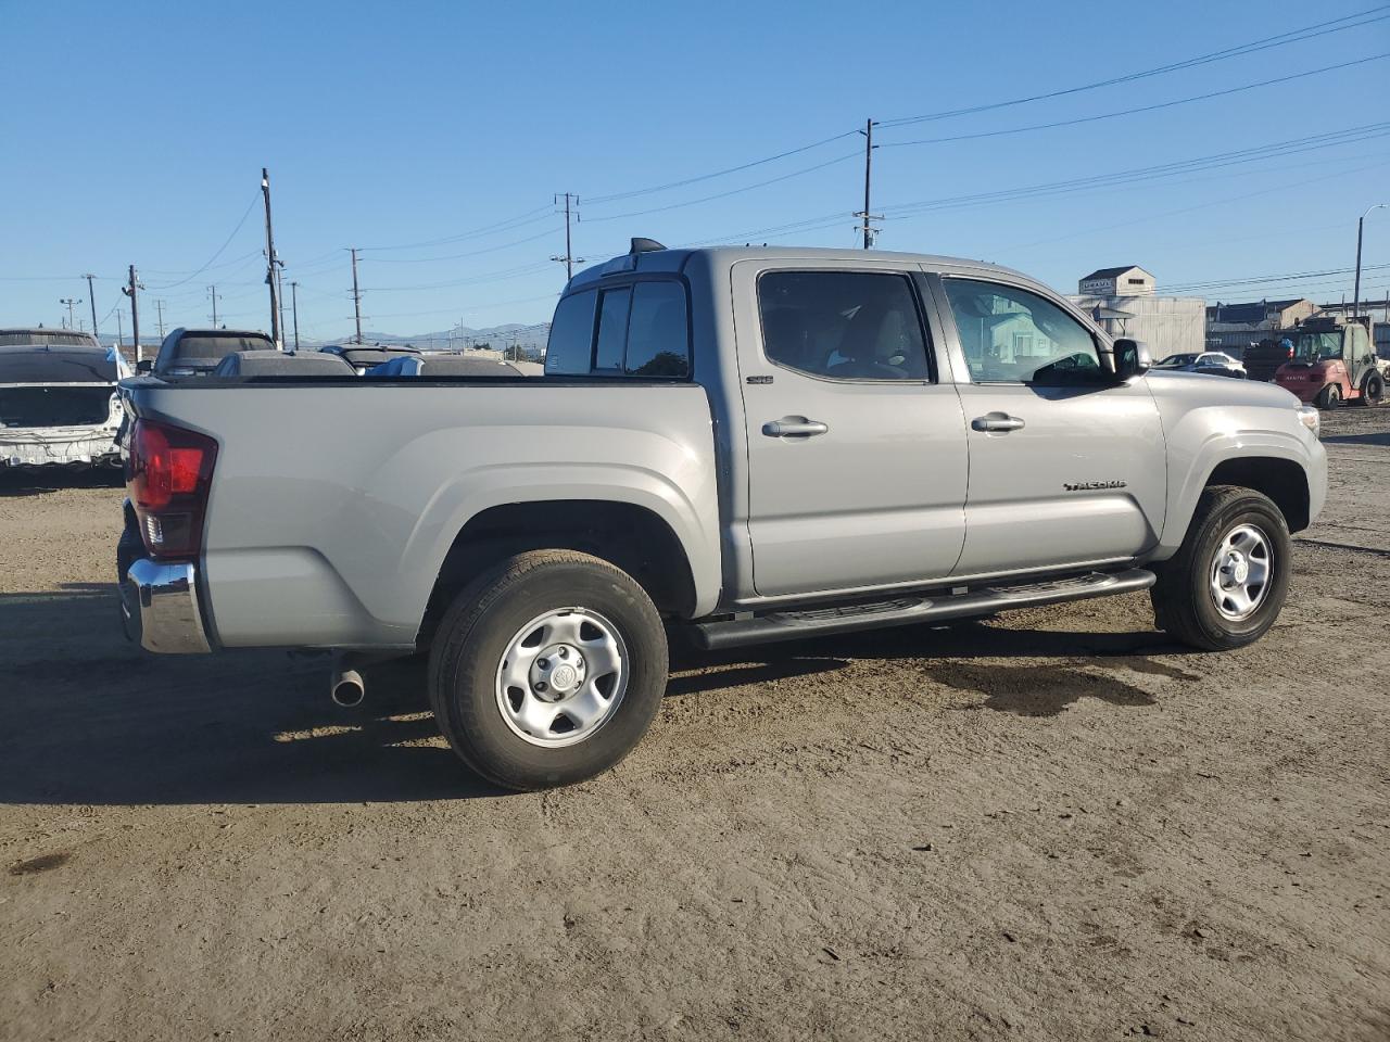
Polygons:
<instances>
[{"instance_id":1,"label":"silver rim of the pickup's rear wheel, without the tire","mask_svg":"<svg viewBox=\"0 0 1390 1042\"><path fill-rule=\"evenodd\" d=\"M531 745L575 745L613 718L627 675L617 627L591 609L555 609L507 642L498 665L498 710Z\"/></svg>"}]
</instances>

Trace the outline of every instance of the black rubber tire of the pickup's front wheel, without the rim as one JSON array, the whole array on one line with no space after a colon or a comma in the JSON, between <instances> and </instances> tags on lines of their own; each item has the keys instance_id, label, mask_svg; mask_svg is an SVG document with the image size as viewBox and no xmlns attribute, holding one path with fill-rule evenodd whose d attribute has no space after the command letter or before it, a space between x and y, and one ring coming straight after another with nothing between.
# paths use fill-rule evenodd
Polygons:
<instances>
[{"instance_id":1,"label":"black rubber tire of the pickup's front wheel, without the rim","mask_svg":"<svg viewBox=\"0 0 1390 1042\"><path fill-rule=\"evenodd\" d=\"M1212 592L1218 550L1226 536L1243 527L1266 539L1269 578L1251 613L1232 618ZM1258 640L1279 618L1289 596L1291 564L1289 525L1268 496L1236 485L1213 485L1197 502L1187 538L1177 553L1154 571L1150 590L1159 629L1175 639L1208 652L1244 647Z\"/></svg>"}]
</instances>

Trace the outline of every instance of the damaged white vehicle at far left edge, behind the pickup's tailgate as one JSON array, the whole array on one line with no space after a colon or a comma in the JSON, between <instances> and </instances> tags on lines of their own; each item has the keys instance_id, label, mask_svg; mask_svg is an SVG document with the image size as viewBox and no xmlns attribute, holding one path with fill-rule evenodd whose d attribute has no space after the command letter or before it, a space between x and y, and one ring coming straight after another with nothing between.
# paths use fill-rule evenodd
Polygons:
<instances>
[{"instance_id":1,"label":"damaged white vehicle at far left edge, behind the pickup's tailgate","mask_svg":"<svg viewBox=\"0 0 1390 1042\"><path fill-rule=\"evenodd\" d=\"M70 329L0 329L0 470L118 467L114 347Z\"/></svg>"}]
</instances>

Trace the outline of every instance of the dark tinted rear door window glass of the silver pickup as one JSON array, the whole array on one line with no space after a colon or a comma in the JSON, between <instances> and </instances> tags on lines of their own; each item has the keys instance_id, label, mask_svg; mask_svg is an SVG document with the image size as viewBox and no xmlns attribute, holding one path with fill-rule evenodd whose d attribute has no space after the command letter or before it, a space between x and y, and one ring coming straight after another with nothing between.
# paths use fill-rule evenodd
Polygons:
<instances>
[{"instance_id":1,"label":"dark tinted rear door window glass of the silver pickup","mask_svg":"<svg viewBox=\"0 0 1390 1042\"><path fill-rule=\"evenodd\" d=\"M758 279L763 353L835 381L924 381L927 342L906 275L769 271Z\"/></svg>"}]
</instances>

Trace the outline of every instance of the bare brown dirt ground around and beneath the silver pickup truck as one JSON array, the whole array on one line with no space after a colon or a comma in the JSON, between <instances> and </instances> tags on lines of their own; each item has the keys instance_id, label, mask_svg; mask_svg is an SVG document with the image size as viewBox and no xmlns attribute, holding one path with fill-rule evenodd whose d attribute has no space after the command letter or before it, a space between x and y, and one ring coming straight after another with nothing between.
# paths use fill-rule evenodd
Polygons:
<instances>
[{"instance_id":1,"label":"bare brown dirt ground around and beneath the silver pickup truck","mask_svg":"<svg viewBox=\"0 0 1390 1042\"><path fill-rule=\"evenodd\" d=\"M0 1038L1390 1038L1390 408L1279 625L1144 596L677 663L514 796L409 664L154 659L111 483L0 488Z\"/></svg>"}]
</instances>

